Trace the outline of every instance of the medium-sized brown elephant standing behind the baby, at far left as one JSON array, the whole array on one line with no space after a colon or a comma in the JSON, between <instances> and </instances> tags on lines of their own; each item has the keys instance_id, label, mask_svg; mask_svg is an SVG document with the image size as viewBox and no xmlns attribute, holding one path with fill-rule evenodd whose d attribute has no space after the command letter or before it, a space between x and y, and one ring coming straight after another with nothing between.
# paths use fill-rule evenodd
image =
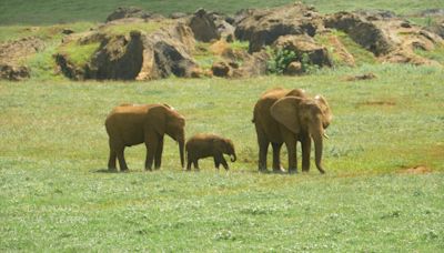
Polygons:
<instances>
[{"instance_id":1,"label":"medium-sized brown elephant standing behind the baby, at far left","mask_svg":"<svg viewBox=\"0 0 444 253\"><path fill-rule=\"evenodd\" d=\"M121 104L105 120L109 135L109 170L127 171L125 146L145 143L145 170L159 169L162 163L163 135L167 133L179 143L181 165L184 165L185 119L168 104Z\"/></svg>"}]
</instances>

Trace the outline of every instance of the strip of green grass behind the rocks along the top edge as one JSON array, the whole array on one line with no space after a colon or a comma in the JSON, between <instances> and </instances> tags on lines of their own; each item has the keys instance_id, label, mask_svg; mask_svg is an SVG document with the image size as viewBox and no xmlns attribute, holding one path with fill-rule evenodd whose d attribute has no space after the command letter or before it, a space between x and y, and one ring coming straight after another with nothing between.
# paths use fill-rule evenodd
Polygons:
<instances>
[{"instance_id":1,"label":"strip of green grass behind the rocks along the top edge","mask_svg":"<svg viewBox=\"0 0 444 253\"><path fill-rule=\"evenodd\" d=\"M172 12L194 12L203 7L234 13L243 8L266 8L292 3L290 0L271 1L209 1L209 0L128 0L122 3L118 0L2 0L0 2L0 23L2 24L52 24L73 21L104 21L118 7L135 6L145 10L163 14ZM393 1L349 1L349 0L304 0L304 3L315 6L322 12L335 12L357 9L387 9L400 14L414 14L424 9L442 8L440 0L393 0ZM20 14L18 14L20 13Z\"/></svg>"}]
</instances>

